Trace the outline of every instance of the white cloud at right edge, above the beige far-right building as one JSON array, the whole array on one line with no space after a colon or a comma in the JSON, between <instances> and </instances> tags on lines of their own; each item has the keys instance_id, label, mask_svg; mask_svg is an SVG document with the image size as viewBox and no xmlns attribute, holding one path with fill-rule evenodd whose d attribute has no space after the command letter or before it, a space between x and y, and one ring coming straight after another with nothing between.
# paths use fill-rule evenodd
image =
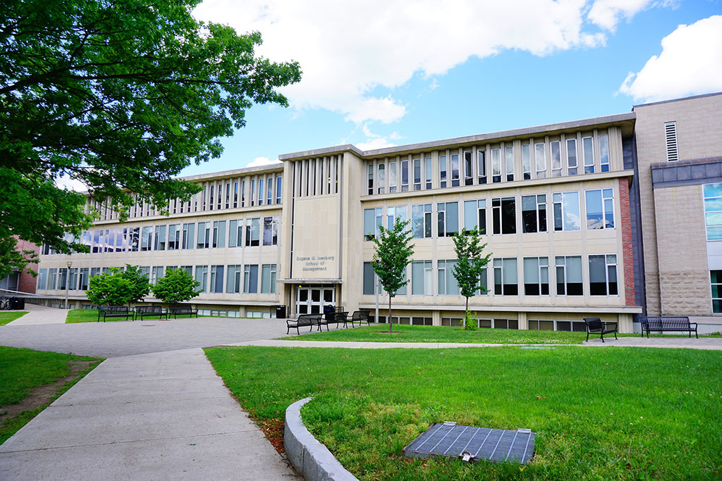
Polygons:
<instances>
[{"instance_id":1,"label":"white cloud at right edge, above the beige far-right building","mask_svg":"<svg viewBox=\"0 0 722 481\"><path fill-rule=\"evenodd\" d=\"M722 90L722 16L679 25L662 39L662 53L638 73L630 72L619 93L656 102Z\"/></svg>"}]
</instances>

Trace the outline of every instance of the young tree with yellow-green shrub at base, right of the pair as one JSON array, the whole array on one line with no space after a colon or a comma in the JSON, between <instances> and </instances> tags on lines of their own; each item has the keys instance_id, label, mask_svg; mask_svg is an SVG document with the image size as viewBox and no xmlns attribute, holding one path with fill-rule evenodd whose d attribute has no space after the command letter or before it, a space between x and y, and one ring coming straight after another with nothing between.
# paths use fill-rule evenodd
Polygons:
<instances>
[{"instance_id":1,"label":"young tree with yellow-green shrub at base, right of the pair","mask_svg":"<svg viewBox=\"0 0 722 481\"><path fill-rule=\"evenodd\" d=\"M461 230L453 235L454 250L456 251L456 265L451 270L461 295L466 297L466 313L469 313L469 297L477 294L481 290L486 293L487 289L479 283L479 276L487 268L487 264L491 258L491 252L487 255L483 254L484 247L482 237L477 229L467 231Z\"/></svg>"}]
</instances>

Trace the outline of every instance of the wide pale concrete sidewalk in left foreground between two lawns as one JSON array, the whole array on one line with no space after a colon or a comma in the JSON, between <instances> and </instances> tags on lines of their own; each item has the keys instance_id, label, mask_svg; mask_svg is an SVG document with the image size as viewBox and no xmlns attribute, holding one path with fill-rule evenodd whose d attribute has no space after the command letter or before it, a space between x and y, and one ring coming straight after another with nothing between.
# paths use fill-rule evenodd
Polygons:
<instances>
[{"instance_id":1,"label":"wide pale concrete sidewalk in left foreground between two lawns","mask_svg":"<svg viewBox=\"0 0 722 481\"><path fill-rule=\"evenodd\" d=\"M108 359L0 446L2 480L295 476L200 348Z\"/></svg>"}]
</instances>

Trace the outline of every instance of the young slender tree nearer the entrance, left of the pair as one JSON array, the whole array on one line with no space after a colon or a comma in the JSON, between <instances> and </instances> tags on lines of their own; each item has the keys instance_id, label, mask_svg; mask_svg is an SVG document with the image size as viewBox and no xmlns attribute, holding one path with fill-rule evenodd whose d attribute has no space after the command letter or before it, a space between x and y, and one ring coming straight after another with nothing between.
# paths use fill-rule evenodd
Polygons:
<instances>
[{"instance_id":1,"label":"young slender tree nearer the entrance, left of the pair","mask_svg":"<svg viewBox=\"0 0 722 481\"><path fill-rule=\"evenodd\" d=\"M414 255L413 234L407 229L409 221L396 221L392 229L379 226L380 238L374 238L375 252L371 265L378 275L383 290L388 294L388 332L391 334L391 299L403 286L409 283L406 266Z\"/></svg>"}]
</instances>

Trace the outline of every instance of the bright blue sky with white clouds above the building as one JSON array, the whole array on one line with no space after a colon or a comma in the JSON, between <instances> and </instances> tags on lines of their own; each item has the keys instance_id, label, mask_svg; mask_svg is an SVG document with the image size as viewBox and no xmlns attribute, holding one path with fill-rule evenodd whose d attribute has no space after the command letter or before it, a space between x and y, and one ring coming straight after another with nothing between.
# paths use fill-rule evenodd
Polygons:
<instances>
[{"instance_id":1,"label":"bright blue sky with white clouds above the building","mask_svg":"<svg viewBox=\"0 0 722 481\"><path fill-rule=\"evenodd\" d=\"M219 159L182 175L629 112L722 91L722 0L204 0L199 20L257 30L295 60Z\"/></svg>"}]
</instances>

